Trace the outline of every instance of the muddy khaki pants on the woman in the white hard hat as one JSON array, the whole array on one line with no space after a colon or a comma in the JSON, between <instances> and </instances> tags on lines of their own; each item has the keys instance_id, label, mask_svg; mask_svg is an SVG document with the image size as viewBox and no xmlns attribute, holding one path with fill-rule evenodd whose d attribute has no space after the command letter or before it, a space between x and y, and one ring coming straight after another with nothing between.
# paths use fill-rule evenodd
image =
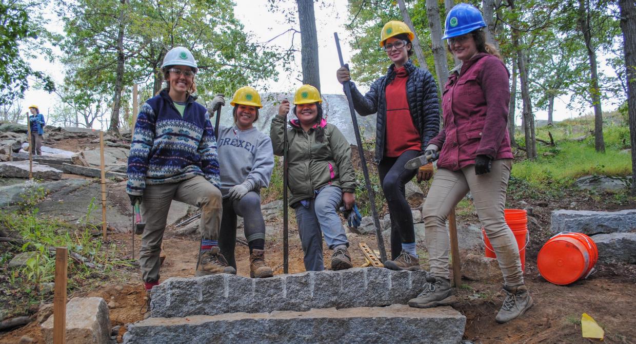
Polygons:
<instances>
[{"instance_id":1,"label":"muddy khaki pants on the woman in the white hard hat","mask_svg":"<svg viewBox=\"0 0 636 344\"><path fill-rule=\"evenodd\" d=\"M146 221L146 227L139 250L141 276L146 283L159 280L159 254L173 199L201 209L199 232L204 239L218 240L219 237L223 214L221 190L203 176L195 176L179 183L146 185L141 201L141 216Z\"/></svg>"}]
</instances>

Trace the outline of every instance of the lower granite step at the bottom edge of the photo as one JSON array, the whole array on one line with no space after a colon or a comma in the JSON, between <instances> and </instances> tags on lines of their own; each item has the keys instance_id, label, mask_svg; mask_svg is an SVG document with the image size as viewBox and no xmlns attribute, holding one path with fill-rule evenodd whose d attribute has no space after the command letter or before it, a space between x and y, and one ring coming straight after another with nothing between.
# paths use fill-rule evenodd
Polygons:
<instances>
[{"instance_id":1,"label":"lower granite step at the bottom edge of the photo","mask_svg":"<svg viewBox=\"0 0 636 344\"><path fill-rule=\"evenodd\" d=\"M465 326L466 317L450 306L326 308L149 318L128 326L123 343L457 344Z\"/></svg>"}]
</instances>

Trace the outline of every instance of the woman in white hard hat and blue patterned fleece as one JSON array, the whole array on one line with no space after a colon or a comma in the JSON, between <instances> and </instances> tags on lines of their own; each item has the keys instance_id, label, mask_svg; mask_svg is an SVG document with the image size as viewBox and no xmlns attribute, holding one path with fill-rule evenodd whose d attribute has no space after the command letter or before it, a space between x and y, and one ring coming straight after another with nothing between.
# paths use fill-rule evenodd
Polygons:
<instances>
[{"instance_id":1,"label":"woman in white hard hat and blue patterned fleece","mask_svg":"<svg viewBox=\"0 0 636 344\"><path fill-rule=\"evenodd\" d=\"M139 262L146 290L159 283L160 250L172 200L200 207L202 245L195 275L236 273L219 252L221 190L214 128L195 102L197 62L172 48L161 66L165 88L141 106L128 156L126 192L146 227Z\"/></svg>"}]
</instances>

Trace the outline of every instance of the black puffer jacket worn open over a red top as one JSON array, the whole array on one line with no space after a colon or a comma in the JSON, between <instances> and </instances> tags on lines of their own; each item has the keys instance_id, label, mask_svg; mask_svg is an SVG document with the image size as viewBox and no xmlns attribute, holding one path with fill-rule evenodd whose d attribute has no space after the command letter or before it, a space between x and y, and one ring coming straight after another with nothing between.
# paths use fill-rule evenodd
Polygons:
<instances>
[{"instance_id":1,"label":"black puffer jacket worn open over a red top","mask_svg":"<svg viewBox=\"0 0 636 344\"><path fill-rule=\"evenodd\" d=\"M356 85L351 83L351 95L354 101L354 108L362 116L378 113L378 120L375 131L375 163L379 164L384 156L384 138L387 122L387 101L385 90L387 85L395 78L394 64L391 64L387 75L382 76L373 82L369 92L363 96ZM408 108L411 111L413 125L422 138L422 148L420 154L424 154L424 149L429 144L429 140L439 133L439 103L437 87L431 73L419 69L410 59L404 64L408 73L406 80L406 96L408 97Z\"/></svg>"}]
</instances>

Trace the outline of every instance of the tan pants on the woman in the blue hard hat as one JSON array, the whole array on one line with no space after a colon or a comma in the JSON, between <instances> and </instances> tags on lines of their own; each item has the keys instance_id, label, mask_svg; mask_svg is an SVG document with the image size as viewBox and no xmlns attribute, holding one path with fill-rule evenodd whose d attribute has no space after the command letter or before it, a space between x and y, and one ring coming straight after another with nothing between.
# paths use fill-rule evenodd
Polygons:
<instances>
[{"instance_id":1,"label":"tan pants on the woman in the blue hard hat","mask_svg":"<svg viewBox=\"0 0 636 344\"><path fill-rule=\"evenodd\" d=\"M519 248L504 219L506 189L511 167L511 159L500 159L492 162L490 173L485 175L475 175L474 165L466 166L460 171L438 170L422 211L431 275L443 278L450 276L450 240L446 229L446 217L470 191L481 226L484 227L497 254L504 284L509 287L523 284Z\"/></svg>"}]
</instances>

